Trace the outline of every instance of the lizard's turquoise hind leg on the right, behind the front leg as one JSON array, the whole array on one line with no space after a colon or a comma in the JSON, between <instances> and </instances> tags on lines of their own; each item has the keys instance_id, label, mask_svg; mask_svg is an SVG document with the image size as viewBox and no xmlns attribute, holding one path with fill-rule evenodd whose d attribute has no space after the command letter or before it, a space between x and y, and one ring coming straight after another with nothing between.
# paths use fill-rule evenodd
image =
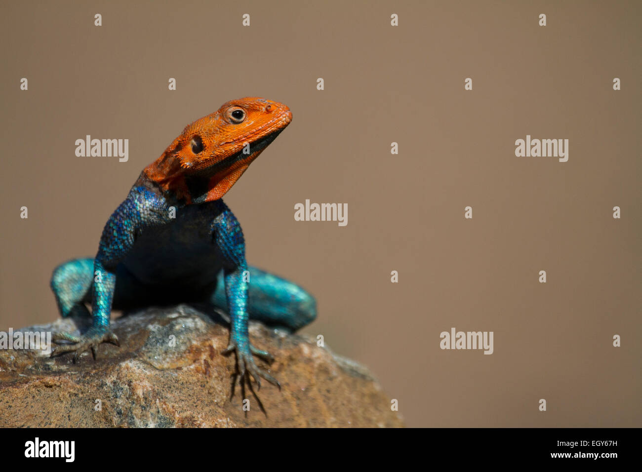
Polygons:
<instances>
[{"instance_id":1,"label":"lizard's turquoise hind leg on the right, behind the front leg","mask_svg":"<svg viewBox=\"0 0 642 472\"><path fill-rule=\"evenodd\" d=\"M251 320L287 331L296 331L315 320L317 301L306 290L256 267L250 266L248 271L247 311ZM227 310L223 283L216 286L213 303Z\"/></svg>"}]
</instances>

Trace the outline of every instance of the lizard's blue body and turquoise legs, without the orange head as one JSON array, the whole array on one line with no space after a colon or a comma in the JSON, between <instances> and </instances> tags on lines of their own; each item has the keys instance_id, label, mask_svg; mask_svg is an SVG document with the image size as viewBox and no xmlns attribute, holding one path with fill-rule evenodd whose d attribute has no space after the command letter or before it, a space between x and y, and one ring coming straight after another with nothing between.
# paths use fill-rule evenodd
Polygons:
<instances>
[{"instance_id":1,"label":"lizard's blue body and turquoise legs, without the orange head","mask_svg":"<svg viewBox=\"0 0 642 472\"><path fill-rule=\"evenodd\" d=\"M248 318L293 331L316 316L315 299L302 288L248 267L241 226L222 199L184 205L143 185L134 186L107 221L96 258L60 265L51 288L62 316L89 315L85 303L92 306L92 328L81 337L58 335L76 345L57 352L116 339L112 309L209 303L230 315L229 350L236 351L241 374L247 367L255 379L260 374L272 383L252 360L252 354L269 354L250 344Z\"/></svg>"}]
</instances>

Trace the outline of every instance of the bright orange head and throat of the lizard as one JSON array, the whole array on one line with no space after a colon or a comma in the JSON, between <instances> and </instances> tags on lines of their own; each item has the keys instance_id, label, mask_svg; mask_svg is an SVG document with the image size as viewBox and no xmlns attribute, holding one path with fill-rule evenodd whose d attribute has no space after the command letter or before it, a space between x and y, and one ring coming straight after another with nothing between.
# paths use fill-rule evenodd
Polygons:
<instances>
[{"instance_id":1,"label":"bright orange head and throat of the lizard","mask_svg":"<svg viewBox=\"0 0 642 472\"><path fill-rule=\"evenodd\" d=\"M291 119L276 101L228 101L188 125L143 175L187 204L218 200Z\"/></svg>"}]
</instances>

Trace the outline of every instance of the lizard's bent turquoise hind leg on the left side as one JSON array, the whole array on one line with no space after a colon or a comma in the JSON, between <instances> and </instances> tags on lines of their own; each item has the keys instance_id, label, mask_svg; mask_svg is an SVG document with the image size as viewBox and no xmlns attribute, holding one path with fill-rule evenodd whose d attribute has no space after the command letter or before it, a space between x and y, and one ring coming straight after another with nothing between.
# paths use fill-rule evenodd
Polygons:
<instances>
[{"instance_id":1,"label":"lizard's bent turquoise hind leg on the left side","mask_svg":"<svg viewBox=\"0 0 642 472\"><path fill-rule=\"evenodd\" d=\"M62 317L87 316L85 302L91 302L94 259L73 259L59 265L51 275L51 290Z\"/></svg>"}]
</instances>

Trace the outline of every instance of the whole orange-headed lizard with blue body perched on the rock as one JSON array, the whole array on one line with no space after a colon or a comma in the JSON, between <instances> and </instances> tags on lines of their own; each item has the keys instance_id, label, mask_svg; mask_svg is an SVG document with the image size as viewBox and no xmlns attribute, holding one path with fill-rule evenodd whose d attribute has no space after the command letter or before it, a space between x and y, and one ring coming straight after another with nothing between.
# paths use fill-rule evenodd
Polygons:
<instances>
[{"instance_id":1,"label":"whole orange-headed lizard with blue body perched on the rock","mask_svg":"<svg viewBox=\"0 0 642 472\"><path fill-rule=\"evenodd\" d=\"M223 354L236 354L239 381L261 377L248 319L295 331L317 316L315 298L296 284L247 265L243 231L223 195L292 119L276 101L246 97L197 119L143 169L108 218L95 258L59 265L51 289L62 317L91 316L81 335L57 333L51 356L74 352L74 362L98 345L119 345L111 310L205 303L225 310L230 337ZM87 308L91 304L91 314ZM241 384L243 385L243 384Z\"/></svg>"}]
</instances>

